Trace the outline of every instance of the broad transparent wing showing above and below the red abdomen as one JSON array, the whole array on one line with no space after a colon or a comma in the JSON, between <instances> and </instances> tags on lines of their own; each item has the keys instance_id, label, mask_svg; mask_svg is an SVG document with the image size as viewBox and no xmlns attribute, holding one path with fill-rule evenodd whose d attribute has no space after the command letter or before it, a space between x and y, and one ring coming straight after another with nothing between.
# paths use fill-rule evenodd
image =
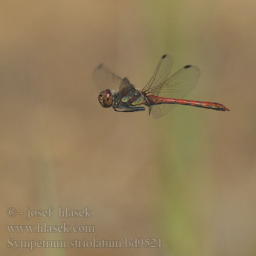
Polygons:
<instances>
[{"instance_id":1,"label":"broad transparent wing showing above and below the red abdomen","mask_svg":"<svg viewBox=\"0 0 256 256\"><path fill-rule=\"evenodd\" d=\"M170 76L166 81L151 87L147 95L156 95L164 98L184 99L184 97L196 86L200 77L200 70L191 65L187 65ZM159 104L153 105L151 113L154 118L159 118L177 104Z\"/></svg>"}]
</instances>

